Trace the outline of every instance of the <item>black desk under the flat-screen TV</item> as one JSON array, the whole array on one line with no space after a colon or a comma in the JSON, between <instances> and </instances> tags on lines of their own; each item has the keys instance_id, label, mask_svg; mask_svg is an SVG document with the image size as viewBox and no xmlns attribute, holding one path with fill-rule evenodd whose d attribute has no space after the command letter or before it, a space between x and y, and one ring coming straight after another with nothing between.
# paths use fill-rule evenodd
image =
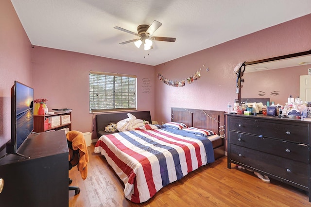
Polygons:
<instances>
[{"instance_id":1,"label":"black desk under the flat-screen TV","mask_svg":"<svg viewBox=\"0 0 311 207\"><path fill-rule=\"evenodd\" d=\"M68 206L68 145L65 131L31 134L18 150L0 159L1 207Z\"/></svg>"}]
</instances>

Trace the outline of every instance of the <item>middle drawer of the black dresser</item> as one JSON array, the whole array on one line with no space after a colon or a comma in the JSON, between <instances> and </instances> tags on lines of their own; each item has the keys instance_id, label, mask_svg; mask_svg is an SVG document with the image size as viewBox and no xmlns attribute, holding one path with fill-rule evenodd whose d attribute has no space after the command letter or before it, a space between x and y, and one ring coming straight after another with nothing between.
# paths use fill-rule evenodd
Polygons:
<instances>
[{"instance_id":1,"label":"middle drawer of the black dresser","mask_svg":"<svg viewBox=\"0 0 311 207\"><path fill-rule=\"evenodd\" d=\"M295 144L271 138L264 138L230 131L230 144L247 147L253 150L281 156L288 159L308 163L309 147L307 145Z\"/></svg>"}]
</instances>

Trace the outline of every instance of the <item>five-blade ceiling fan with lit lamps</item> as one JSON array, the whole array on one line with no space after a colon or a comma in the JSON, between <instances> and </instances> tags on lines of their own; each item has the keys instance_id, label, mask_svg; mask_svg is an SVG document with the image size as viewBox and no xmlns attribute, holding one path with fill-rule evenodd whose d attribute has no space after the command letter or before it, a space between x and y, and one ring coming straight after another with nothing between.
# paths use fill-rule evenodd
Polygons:
<instances>
[{"instance_id":1,"label":"five-blade ceiling fan with lit lamps","mask_svg":"<svg viewBox=\"0 0 311 207\"><path fill-rule=\"evenodd\" d=\"M117 29L117 30L121 30L123 32L129 33L129 34L132 34L132 35L136 35L136 36L139 37L138 39L132 39L132 40L128 40L128 41L125 41L125 42L121 42L120 43L121 45L130 43L130 42L134 42L135 46L137 48L139 48L140 45L142 43L144 43L144 50L147 51L147 50L150 50L150 49L153 48L152 47L152 44L153 44L152 40L155 40L155 41L165 41L165 42L175 42L176 38L174 38L174 37L151 36L152 34L154 34L154 32L161 25L162 25L162 23L158 22L156 20L154 20L150 26L146 25L146 24L138 25L138 27L137 27L137 32L138 33L131 32L131 31L123 29L121 27L114 27L114 28Z\"/></svg>"}]
</instances>

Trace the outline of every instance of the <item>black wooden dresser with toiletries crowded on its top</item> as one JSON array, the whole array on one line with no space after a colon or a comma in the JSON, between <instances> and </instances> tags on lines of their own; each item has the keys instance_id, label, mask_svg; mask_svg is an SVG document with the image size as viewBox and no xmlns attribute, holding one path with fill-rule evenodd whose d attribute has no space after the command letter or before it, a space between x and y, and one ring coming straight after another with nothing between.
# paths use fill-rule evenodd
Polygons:
<instances>
[{"instance_id":1,"label":"black wooden dresser with toiletries crowded on its top","mask_svg":"<svg viewBox=\"0 0 311 207\"><path fill-rule=\"evenodd\" d=\"M311 122L274 116L227 114L231 163L309 192Z\"/></svg>"}]
</instances>

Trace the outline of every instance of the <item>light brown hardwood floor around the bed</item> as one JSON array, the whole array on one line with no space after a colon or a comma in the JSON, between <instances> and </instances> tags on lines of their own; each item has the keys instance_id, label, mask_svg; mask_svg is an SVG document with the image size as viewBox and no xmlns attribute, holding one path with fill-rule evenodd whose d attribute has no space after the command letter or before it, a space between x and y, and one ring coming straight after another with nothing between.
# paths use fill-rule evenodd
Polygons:
<instances>
[{"instance_id":1,"label":"light brown hardwood floor around the bed","mask_svg":"<svg viewBox=\"0 0 311 207\"><path fill-rule=\"evenodd\" d=\"M235 165L228 169L226 156L162 188L149 201L134 204L124 198L124 185L104 156L94 153L94 143L88 147L88 153L85 181L76 167L69 171L71 186L81 189L78 195L69 191L69 207L311 206L306 191L276 180L264 183L254 173Z\"/></svg>"}]
</instances>

